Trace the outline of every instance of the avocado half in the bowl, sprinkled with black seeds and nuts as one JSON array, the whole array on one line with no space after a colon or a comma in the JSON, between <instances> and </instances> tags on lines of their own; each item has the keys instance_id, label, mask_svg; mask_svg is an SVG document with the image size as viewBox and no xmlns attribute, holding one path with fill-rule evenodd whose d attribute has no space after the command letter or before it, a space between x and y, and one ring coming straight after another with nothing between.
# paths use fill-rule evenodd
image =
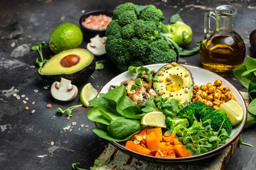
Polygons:
<instances>
[{"instance_id":1,"label":"avocado half in the bowl, sprinkled with black seeds and nuts","mask_svg":"<svg viewBox=\"0 0 256 170\"><path fill-rule=\"evenodd\" d=\"M191 72L176 62L166 64L156 73L154 90L162 98L176 98L180 103L190 102L193 97Z\"/></svg>"}]
</instances>

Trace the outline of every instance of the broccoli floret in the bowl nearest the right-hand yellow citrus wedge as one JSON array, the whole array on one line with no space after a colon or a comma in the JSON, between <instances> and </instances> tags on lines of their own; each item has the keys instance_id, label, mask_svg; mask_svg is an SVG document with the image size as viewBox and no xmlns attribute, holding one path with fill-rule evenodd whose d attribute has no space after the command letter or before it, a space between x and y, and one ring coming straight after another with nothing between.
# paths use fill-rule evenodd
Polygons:
<instances>
[{"instance_id":1,"label":"broccoli floret in the bowl nearest the right-hand yellow citrus wedge","mask_svg":"<svg viewBox=\"0 0 256 170\"><path fill-rule=\"evenodd\" d=\"M204 117L202 118L202 121L206 121L208 119L211 120L210 125L215 132L218 132L218 130L220 129L220 126L225 120L221 128L224 128L228 132L228 135L230 135L232 131L232 125L231 125L230 119L228 118L225 112L220 110L212 111L204 115Z\"/></svg>"}]
</instances>

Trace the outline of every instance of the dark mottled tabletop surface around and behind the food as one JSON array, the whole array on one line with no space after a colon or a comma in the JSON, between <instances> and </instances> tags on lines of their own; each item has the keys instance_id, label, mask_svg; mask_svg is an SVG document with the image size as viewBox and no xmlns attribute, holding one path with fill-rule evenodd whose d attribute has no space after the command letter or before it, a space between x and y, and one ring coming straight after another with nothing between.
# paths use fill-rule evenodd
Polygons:
<instances>
[{"instance_id":1,"label":"dark mottled tabletop surface around and behind the food","mask_svg":"<svg viewBox=\"0 0 256 170\"><path fill-rule=\"evenodd\" d=\"M37 73L36 58L39 55L30 48L36 42L48 43L51 31L61 23L75 23L79 26L78 20L83 13L94 10L113 11L115 6L124 2L0 1L0 169L71 169L73 162L80 162L86 168L92 166L107 142L92 132L95 125L86 116L89 108L75 109L70 120L66 119L66 114L55 112L58 107L68 108L78 104L79 97L69 102L53 99L49 89L51 83L41 79ZM256 28L255 1L158 0L139 1L137 4L154 4L160 8L166 16L164 23L168 23L169 16L179 13L193 30L191 47L203 39L204 13L220 4L233 4L238 9L238 15L233 18L233 29L245 41L246 54L250 55L249 35ZM85 42L81 47L85 47ZM53 53L44 49L43 55L49 57ZM89 78L79 84L79 90L88 82L100 90L107 81L119 74L106 57L97 57L96 61L103 62L105 68L92 74L95 79ZM181 57L179 62L201 67L199 54ZM228 80L239 90L245 91L234 77L228 77ZM13 94L25 97L18 100ZM48 103L53 107L46 108ZM25 111L26 106L30 108L28 111ZM33 110L35 112L31 113ZM77 125L72 125L73 122ZM89 128L81 127L81 124L89 125ZM71 125L72 131L63 130L67 125ZM243 142L256 145L255 137L255 127L242 132ZM238 147L225 169L256 169L255 151L255 148L244 145Z\"/></svg>"}]
</instances>

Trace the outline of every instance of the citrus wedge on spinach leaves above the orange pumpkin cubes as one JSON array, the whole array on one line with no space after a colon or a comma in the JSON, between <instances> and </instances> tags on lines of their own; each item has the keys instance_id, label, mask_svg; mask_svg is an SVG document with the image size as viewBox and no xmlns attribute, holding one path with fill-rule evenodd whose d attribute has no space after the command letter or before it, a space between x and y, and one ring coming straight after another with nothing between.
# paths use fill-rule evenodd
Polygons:
<instances>
[{"instance_id":1,"label":"citrus wedge on spinach leaves above the orange pumpkin cubes","mask_svg":"<svg viewBox=\"0 0 256 170\"><path fill-rule=\"evenodd\" d=\"M160 127L160 128L166 128L165 118L166 118L166 115L164 115L163 113L159 111L151 111L149 113L146 113L146 115L142 117L141 124Z\"/></svg>"}]
</instances>

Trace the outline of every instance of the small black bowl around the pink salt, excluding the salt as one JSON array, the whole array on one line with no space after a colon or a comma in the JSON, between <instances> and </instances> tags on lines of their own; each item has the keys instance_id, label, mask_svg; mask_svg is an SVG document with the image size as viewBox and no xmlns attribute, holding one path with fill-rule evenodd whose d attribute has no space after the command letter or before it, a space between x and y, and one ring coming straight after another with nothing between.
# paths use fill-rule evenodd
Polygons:
<instances>
[{"instance_id":1,"label":"small black bowl around the pink salt, excluding the salt","mask_svg":"<svg viewBox=\"0 0 256 170\"><path fill-rule=\"evenodd\" d=\"M90 41L90 38L95 37L96 35L100 35L100 37L104 37L105 33L106 33L106 29L102 29L102 30L94 30L94 29L90 29L85 27L82 22L85 21L85 18L89 17L89 16L98 16L98 15L106 15L106 16L110 16L112 17L112 13L108 12L108 11L90 11L87 12L85 14L83 14L80 19L79 19L79 25L80 28L82 30L82 35L83 35L83 39L85 41Z\"/></svg>"}]
</instances>

